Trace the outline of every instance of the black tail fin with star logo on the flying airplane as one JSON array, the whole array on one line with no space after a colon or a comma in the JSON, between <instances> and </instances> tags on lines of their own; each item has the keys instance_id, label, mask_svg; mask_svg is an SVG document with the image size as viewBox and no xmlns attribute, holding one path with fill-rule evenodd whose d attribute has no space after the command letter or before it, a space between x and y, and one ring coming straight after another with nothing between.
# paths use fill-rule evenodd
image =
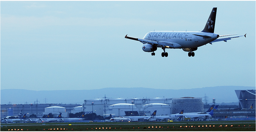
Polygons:
<instances>
[{"instance_id":1,"label":"black tail fin with star logo on the flying airplane","mask_svg":"<svg viewBox=\"0 0 256 132\"><path fill-rule=\"evenodd\" d=\"M215 20L216 20L217 7L212 8L211 14L207 20L204 30L202 32L214 33Z\"/></svg>"}]
</instances>

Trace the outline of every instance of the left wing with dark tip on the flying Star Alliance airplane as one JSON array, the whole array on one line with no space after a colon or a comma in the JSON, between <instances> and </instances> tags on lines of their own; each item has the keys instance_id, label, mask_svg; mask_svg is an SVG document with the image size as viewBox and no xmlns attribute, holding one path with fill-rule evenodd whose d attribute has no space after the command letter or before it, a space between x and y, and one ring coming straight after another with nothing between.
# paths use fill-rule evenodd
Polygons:
<instances>
[{"instance_id":1,"label":"left wing with dark tip on the flying Star Alliance airplane","mask_svg":"<svg viewBox=\"0 0 256 132\"><path fill-rule=\"evenodd\" d=\"M146 39L140 39L140 38L133 38L133 37L128 37L127 35L124 38L140 41L143 44L148 43L150 45L169 46L169 47L172 47L172 48L173 48L173 45L177 44L177 43L168 42L168 41L152 41L152 40L146 40Z\"/></svg>"}]
</instances>

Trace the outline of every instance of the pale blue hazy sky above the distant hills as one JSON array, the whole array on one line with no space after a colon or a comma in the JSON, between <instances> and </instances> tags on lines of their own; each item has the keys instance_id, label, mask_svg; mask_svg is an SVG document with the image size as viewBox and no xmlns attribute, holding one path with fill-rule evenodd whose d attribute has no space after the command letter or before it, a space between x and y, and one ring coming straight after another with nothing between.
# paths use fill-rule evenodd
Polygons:
<instances>
[{"instance_id":1,"label":"pale blue hazy sky above the distant hills","mask_svg":"<svg viewBox=\"0 0 256 132\"><path fill-rule=\"evenodd\" d=\"M1 1L1 89L191 89L255 86L255 1ZM153 30L246 37L182 49L142 50Z\"/></svg>"}]
</instances>

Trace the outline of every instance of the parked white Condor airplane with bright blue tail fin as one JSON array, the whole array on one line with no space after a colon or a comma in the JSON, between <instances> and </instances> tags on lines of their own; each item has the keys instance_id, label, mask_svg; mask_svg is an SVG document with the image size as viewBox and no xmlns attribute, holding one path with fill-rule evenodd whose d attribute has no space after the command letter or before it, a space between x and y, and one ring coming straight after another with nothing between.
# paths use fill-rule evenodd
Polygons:
<instances>
[{"instance_id":1,"label":"parked white Condor airplane with bright blue tail fin","mask_svg":"<svg viewBox=\"0 0 256 132\"><path fill-rule=\"evenodd\" d=\"M172 114L168 116L168 119L170 120L178 120L180 118L193 118L193 119L207 119L211 118L213 115L213 109L210 111L209 114Z\"/></svg>"}]
</instances>

